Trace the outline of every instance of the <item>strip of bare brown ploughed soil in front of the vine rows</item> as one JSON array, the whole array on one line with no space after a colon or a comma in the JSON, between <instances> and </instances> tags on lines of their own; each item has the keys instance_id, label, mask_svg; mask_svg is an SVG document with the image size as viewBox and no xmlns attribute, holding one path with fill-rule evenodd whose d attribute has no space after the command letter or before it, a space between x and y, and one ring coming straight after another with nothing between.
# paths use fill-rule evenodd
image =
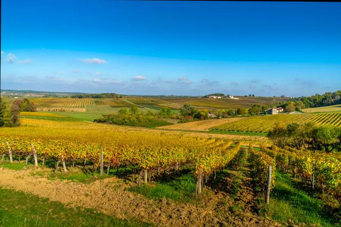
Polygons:
<instances>
[{"instance_id":1,"label":"strip of bare brown ploughed soil in front of the vine rows","mask_svg":"<svg viewBox=\"0 0 341 227\"><path fill-rule=\"evenodd\" d=\"M121 219L135 218L162 227L274 227L277 223L249 212L229 211L231 204L222 204L227 198L218 192L198 205L179 204L171 200L149 200L127 190L134 183L124 183L112 177L91 184L74 181L49 180L32 175L35 169L10 170L0 168L0 186L32 193L67 206L94 208ZM241 196L242 198L242 196ZM247 197L246 197L247 199Z\"/></svg>"}]
</instances>

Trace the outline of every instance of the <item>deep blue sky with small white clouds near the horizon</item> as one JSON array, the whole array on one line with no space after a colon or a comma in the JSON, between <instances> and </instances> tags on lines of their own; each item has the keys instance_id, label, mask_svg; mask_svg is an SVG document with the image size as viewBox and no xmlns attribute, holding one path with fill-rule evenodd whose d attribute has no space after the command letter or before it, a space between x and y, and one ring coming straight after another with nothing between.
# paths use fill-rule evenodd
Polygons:
<instances>
[{"instance_id":1,"label":"deep blue sky with small white clouds near the horizon","mask_svg":"<svg viewBox=\"0 0 341 227\"><path fill-rule=\"evenodd\" d=\"M340 2L2 0L1 89L310 96L341 89Z\"/></svg>"}]
</instances>

